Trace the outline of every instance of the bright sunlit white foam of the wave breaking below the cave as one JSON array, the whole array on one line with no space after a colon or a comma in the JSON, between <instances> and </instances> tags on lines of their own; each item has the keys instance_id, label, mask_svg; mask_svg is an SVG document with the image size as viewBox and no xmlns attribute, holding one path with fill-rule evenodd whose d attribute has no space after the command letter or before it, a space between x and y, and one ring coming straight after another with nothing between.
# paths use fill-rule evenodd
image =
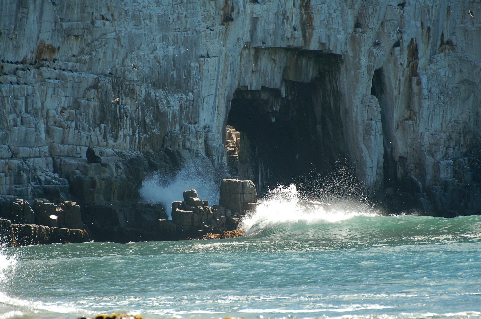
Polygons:
<instances>
[{"instance_id":1,"label":"bright sunlit white foam of the wave breaking below the cave","mask_svg":"<svg viewBox=\"0 0 481 319\"><path fill-rule=\"evenodd\" d=\"M377 214L337 210L323 202L303 200L294 184L279 185L269 189L256 212L244 218L243 227L247 233L254 233L278 224L336 223L358 215Z\"/></svg>"}]
</instances>

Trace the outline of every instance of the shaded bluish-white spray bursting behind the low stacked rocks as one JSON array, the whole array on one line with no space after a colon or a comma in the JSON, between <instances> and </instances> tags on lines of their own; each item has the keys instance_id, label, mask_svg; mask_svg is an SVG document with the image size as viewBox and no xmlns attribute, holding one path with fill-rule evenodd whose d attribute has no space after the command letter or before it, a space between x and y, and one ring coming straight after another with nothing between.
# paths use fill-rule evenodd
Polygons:
<instances>
[{"instance_id":1,"label":"shaded bluish-white spray bursting behind the low stacked rocks","mask_svg":"<svg viewBox=\"0 0 481 319\"><path fill-rule=\"evenodd\" d=\"M184 190L196 189L200 199L209 201L210 206L216 205L220 183L202 167L194 163L182 168L174 177L154 175L146 178L139 190L140 196L148 203L163 204L169 219L172 218L172 202L183 201Z\"/></svg>"}]
</instances>

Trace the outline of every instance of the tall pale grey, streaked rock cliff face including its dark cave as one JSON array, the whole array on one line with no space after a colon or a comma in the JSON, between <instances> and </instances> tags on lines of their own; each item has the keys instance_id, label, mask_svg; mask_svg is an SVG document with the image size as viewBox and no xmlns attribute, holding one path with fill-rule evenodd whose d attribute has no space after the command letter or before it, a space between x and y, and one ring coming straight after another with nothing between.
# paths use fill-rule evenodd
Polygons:
<instances>
[{"instance_id":1,"label":"tall pale grey, streaked rock cliff face including its dark cave","mask_svg":"<svg viewBox=\"0 0 481 319\"><path fill-rule=\"evenodd\" d=\"M286 146L251 158L259 190L346 159L367 193L475 213L481 5L396 2L3 2L1 194L135 200L149 171L225 172L231 124Z\"/></svg>"}]
</instances>

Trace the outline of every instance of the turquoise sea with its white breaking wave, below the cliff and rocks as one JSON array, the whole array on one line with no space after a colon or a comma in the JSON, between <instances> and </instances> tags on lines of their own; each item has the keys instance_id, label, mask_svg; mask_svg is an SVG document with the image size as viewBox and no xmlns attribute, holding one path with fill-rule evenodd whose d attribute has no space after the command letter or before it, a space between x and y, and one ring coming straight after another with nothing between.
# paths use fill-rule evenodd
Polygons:
<instances>
[{"instance_id":1,"label":"turquoise sea with its white breaking wave, below the cliff and rocks","mask_svg":"<svg viewBox=\"0 0 481 319\"><path fill-rule=\"evenodd\" d=\"M2 248L0 319L481 318L481 216L268 198L246 236Z\"/></svg>"}]
</instances>

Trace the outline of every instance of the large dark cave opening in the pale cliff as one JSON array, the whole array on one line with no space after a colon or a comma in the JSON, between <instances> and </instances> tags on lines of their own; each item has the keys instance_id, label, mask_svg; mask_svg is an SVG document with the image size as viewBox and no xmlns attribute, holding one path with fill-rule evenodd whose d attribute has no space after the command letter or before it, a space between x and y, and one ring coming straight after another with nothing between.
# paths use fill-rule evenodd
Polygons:
<instances>
[{"instance_id":1,"label":"large dark cave opening in the pale cliff","mask_svg":"<svg viewBox=\"0 0 481 319\"><path fill-rule=\"evenodd\" d=\"M326 77L283 82L283 92L239 88L228 112L227 125L240 135L237 169L228 171L253 180L260 195L278 184L294 183L299 189L306 177L345 159L336 85L326 83Z\"/></svg>"}]
</instances>

